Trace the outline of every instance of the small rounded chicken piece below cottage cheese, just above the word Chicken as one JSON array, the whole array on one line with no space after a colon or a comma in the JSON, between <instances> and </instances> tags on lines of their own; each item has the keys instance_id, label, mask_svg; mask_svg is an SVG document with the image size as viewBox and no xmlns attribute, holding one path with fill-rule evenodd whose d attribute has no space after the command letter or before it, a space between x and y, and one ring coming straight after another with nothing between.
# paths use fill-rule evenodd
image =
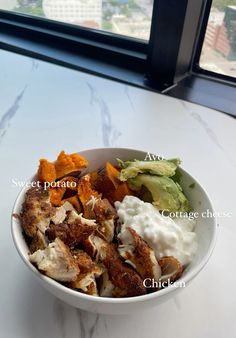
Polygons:
<instances>
[{"instance_id":1,"label":"small rounded chicken piece below cottage cheese, just above the word Chicken","mask_svg":"<svg viewBox=\"0 0 236 338\"><path fill-rule=\"evenodd\" d=\"M161 267L162 275L160 280L162 282L175 282L183 273L183 266L173 256L162 257L158 260Z\"/></svg>"}]
</instances>

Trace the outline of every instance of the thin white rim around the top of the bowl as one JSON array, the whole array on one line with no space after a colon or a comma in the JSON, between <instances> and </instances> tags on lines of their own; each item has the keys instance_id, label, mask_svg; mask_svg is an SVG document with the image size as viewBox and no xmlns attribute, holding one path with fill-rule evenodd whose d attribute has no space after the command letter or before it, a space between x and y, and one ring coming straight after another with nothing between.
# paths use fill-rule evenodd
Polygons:
<instances>
[{"instance_id":1,"label":"thin white rim around the top of the bowl","mask_svg":"<svg viewBox=\"0 0 236 338\"><path fill-rule=\"evenodd\" d=\"M91 152L94 150L98 150L98 151L130 151L130 152L140 152L140 153L148 153L147 151L144 150L140 150L140 149L134 149L134 148L125 148L125 147L101 147L101 148L89 148L89 149L84 149L79 151L78 153L84 153L84 152ZM151 153L151 152L149 152ZM153 153L151 153L153 154ZM205 194L206 198L208 199L209 205L212 209L212 212L214 212L214 208L213 208L213 204L212 201L208 195L208 193L206 192L206 190L202 187L202 185L198 182L198 180L192 176L190 173L188 173L185 169L182 168L182 166L180 166L181 171L184 174L189 175L194 182L197 183L197 185L200 187L200 189L203 191L203 193ZM27 182L31 182L33 180L33 178L35 177L35 175L33 175L29 180L27 180ZM22 195L25 194L25 192L28 190L28 188L26 186L24 186L23 188L21 188L20 192L17 195L17 198L15 200L13 209L12 209L12 213L11 213L11 235L13 238L13 242L15 245L15 248L19 254L19 256L21 257L21 259L23 260L23 262L25 263L25 265L33 272L34 276L36 276L42 283L46 282L47 284L49 284L51 287L54 287L56 289L58 289L59 291L63 292L63 293L67 293L70 296L74 296L75 298L82 299L84 301L89 301L89 302L93 302L93 303L103 303L103 304L128 304L128 303L138 303L138 302L144 302L144 301L148 301L154 298L159 298L162 296L165 296L166 294L172 293L178 289L180 289L180 286L178 287L171 287L168 286L167 288L161 289L158 292L153 292L150 294L145 294L145 295L141 295L141 296L136 296L136 297L125 297L125 298L108 298L108 297L97 297L97 296L92 296L92 295L87 295L84 294L82 292L73 290L68 288L67 286L64 286L63 284L61 284L60 282L46 276L43 275L24 255L24 253L21 251L20 249L20 245L18 243L18 235L15 231L15 225L18 226L20 224L19 220L14 217L14 214L16 213L16 209L19 208L19 201L22 198ZM213 236L211 238L211 242L210 245L208 247L208 250L205 254L205 256L201 259L200 262L197 263L196 266L191 267L191 269L189 271L187 271L186 275L181 278L178 279L179 284L181 284L181 282L184 282L185 285L187 286L187 284L204 268L204 266L207 264L208 260L210 259L212 252L214 250L215 244L216 244L216 239L217 239L217 233L218 233L218 220L217 217L213 217L212 218L213 221ZM22 235L23 236L23 235Z\"/></svg>"}]
</instances>

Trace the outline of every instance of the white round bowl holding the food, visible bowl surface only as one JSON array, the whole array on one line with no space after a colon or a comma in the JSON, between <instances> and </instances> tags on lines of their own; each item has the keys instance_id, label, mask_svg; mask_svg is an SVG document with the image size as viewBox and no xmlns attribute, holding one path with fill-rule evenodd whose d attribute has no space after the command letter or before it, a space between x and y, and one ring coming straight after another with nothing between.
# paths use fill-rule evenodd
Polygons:
<instances>
[{"instance_id":1,"label":"white round bowl holding the food, visible bowl surface only","mask_svg":"<svg viewBox=\"0 0 236 338\"><path fill-rule=\"evenodd\" d=\"M79 153L88 159L88 171L100 168L107 160L113 163L115 163L116 158L120 158L122 160L143 160L147 154L143 151L126 148L90 149ZM194 211L197 211L200 215L207 209L209 209L210 212L213 212L212 203L205 190L186 171L182 168L180 168L180 171L182 173L181 186L190 200ZM190 188L189 185L193 182L195 183L195 186L194 188ZM20 213L27 189L27 187L24 187L17 197L13 208L13 214ZM193 262L185 269L182 277L178 280L180 286L183 284L187 286L188 283L206 265L208 259L210 258L216 241L216 219L199 217L197 219L195 231L198 236L198 251ZM29 249L25 242L21 225L15 217L12 217L12 236L19 255L33 275L37 277L38 281L56 297L83 310L105 314L135 313L170 299L182 289L181 287L168 287L154 293L132 298L104 298L89 296L69 289L55 280L44 276L34 267L34 265L30 263L28 258Z\"/></svg>"}]
</instances>

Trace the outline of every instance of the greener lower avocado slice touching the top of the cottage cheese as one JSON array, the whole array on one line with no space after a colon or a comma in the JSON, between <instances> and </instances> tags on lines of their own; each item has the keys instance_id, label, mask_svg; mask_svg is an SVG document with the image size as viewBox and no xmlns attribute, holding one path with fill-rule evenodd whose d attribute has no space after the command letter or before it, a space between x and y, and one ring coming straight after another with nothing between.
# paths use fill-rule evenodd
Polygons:
<instances>
[{"instance_id":1,"label":"greener lower avocado slice touching the top of the cottage cheese","mask_svg":"<svg viewBox=\"0 0 236 338\"><path fill-rule=\"evenodd\" d=\"M190 205L179 184L166 176L139 174L128 180L130 189L142 193L142 187L152 194L152 204L159 210L189 212ZM142 198L142 196L140 195Z\"/></svg>"}]
</instances>

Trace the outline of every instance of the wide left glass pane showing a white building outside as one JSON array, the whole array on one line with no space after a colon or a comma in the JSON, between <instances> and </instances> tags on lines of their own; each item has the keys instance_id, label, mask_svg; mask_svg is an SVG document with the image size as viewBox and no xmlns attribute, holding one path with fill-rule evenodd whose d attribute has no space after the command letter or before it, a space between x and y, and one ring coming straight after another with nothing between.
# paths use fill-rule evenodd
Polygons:
<instances>
[{"instance_id":1,"label":"wide left glass pane showing a white building outside","mask_svg":"<svg viewBox=\"0 0 236 338\"><path fill-rule=\"evenodd\" d=\"M0 0L0 9L148 40L153 0Z\"/></svg>"}]
</instances>

